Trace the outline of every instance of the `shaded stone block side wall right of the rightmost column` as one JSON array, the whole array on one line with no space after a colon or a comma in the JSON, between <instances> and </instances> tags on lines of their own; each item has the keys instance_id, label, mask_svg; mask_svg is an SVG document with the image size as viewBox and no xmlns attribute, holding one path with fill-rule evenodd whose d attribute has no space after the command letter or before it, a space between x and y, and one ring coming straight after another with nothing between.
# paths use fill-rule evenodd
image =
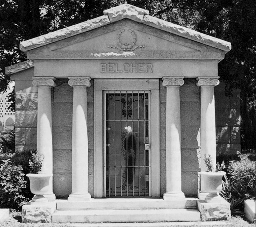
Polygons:
<instances>
[{"instance_id":1,"label":"shaded stone block side wall right of the rightmost column","mask_svg":"<svg viewBox=\"0 0 256 227\"><path fill-rule=\"evenodd\" d=\"M240 146L240 91L233 91L232 97L225 96L225 84L214 88L216 119L216 155L236 154Z\"/></svg>"}]
</instances>

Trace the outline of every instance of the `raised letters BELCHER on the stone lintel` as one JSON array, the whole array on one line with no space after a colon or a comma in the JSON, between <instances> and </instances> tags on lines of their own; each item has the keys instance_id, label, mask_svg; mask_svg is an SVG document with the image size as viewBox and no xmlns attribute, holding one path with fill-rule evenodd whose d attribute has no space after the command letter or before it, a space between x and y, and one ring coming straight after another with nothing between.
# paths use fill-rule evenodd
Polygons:
<instances>
[{"instance_id":1,"label":"raised letters BELCHER on the stone lintel","mask_svg":"<svg viewBox=\"0 0 256 227\"><path fill-rule=\"evenodd\" d=\"M153 73L152 63L100 63L100 72Z\"/></svg>"}]
</instances>

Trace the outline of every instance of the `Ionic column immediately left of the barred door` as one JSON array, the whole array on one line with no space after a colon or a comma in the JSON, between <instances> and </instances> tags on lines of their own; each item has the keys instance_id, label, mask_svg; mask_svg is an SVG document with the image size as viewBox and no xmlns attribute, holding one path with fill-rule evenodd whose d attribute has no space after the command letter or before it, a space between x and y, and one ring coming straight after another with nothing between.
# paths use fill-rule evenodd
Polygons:
<instances>
[{"instance_id":1,"label":"Ionic column immediately left of the barred door","mask_svg":"<svg viewBox=\"0 0 256 227\"><path fill-rule=\"evenodd\" d=\"M87 92L90 77L69 77L73 87L72 120L72 193L69 201L88 201L88 135L87 135Z\"/></svg>"}]
</instances>

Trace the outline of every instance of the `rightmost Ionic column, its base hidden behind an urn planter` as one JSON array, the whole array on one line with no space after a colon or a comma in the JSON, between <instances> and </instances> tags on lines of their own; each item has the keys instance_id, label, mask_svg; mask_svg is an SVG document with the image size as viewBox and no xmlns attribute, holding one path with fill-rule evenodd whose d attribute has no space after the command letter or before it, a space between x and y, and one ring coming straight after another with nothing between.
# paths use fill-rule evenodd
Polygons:
<instances>
[{"instance_id":1,"label":"rightmost Ionic column, its base hidden behind an urn planter","mask_svg":"<svg viewBox=\"0 0 256 227\"><path fill-rule=\"evenodd\" d=\"M197 86L201 86L201 171L206 171L204 156L211 155L213 169L216 168L216 129L214 86L219 84L219 77L198 77Z\"/></svg>"}]
</instances>

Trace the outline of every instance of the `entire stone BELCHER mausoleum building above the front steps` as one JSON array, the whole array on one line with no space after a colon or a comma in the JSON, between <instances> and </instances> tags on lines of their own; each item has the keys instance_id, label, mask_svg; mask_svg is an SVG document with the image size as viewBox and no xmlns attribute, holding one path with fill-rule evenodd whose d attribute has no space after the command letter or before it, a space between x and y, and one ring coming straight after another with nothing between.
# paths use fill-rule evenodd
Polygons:
<instances>
[{"instance_id":1,"label":"entire stone BELCHER mausoleum building above the front steps","mask_svg":"<svg viewBox=\"0 0 256 227\"><path fill-rule=\"evenodd\" d=\"M217 73L229 42L124 4L20 49L16 149L43 154L50 201L196 197L204 155L240 150L239 93Z\"/></svg>"}]
</instances>

